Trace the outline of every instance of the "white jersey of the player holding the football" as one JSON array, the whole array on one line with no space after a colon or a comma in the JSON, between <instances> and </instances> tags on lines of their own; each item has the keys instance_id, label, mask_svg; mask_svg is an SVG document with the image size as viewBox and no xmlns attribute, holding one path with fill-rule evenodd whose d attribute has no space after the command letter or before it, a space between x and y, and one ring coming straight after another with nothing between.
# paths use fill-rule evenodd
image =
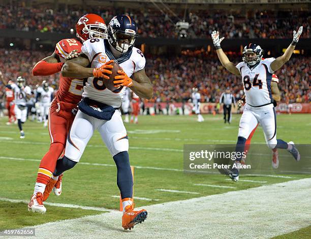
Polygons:
<instances>
[{"instance_id":1,"label":"white jersey of the player holding the football","mask_svg":"<svg viewBox=\"0 0 311 239\"><path fill-rule=\"evenodd\" d=\"M91 67L100 67L107 61L114 59L108 45L108 41L101 38L89 39L83 43L81 51L88 57ZM133 47L131 52L122 55L122 57L116 60L128 77L144 69L146 63L144 55L136 47ZM121 86L111 91L105 87L103 80L89 77L83 87L82 96L118 108L121 106L125 90L126 87Z\"/></svg>"}]
</instances>

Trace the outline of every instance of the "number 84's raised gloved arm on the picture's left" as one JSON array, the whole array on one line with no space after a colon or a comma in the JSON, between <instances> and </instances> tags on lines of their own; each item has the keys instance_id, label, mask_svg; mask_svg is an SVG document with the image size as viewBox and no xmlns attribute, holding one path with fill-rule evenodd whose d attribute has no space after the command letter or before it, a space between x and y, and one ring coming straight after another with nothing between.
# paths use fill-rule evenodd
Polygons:
<instances>
[{"instance_id":1,"label":"number 84's raised gloved arm on the picture's left","mask_svg":"<svg viewBox=\"0 0 311 239\"><path fill-rule=\"evenodd\" d=\"M218 31L213 31L211 34L211 38L213 40L214 47L216 48L217 56L219 60L221 61L222 65L232 74L236 76L240 76L240 72L237 69L237 67L234 65L233 62L229 60L225 52L223 51L221 47L221 42L224 40L224 38L219 38L219 32Z\"/></svg>"}]
</instances>

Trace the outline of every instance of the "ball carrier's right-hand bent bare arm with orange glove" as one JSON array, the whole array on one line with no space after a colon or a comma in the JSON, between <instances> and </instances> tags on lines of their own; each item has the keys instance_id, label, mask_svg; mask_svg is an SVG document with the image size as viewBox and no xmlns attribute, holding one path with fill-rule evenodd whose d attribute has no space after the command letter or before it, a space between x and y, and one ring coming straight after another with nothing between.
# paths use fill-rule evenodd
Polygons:
<instances>
[{"instance_id":1,"label":"ball carrier's right-hand bent bare arm with orange glove","mask_svg":"<svg viewBox=\"0 0 311 239\"><path fill-rule=\"evenodd\" d=\"M127 86L130 87L139 97L150 99L153 96L152 83L142 69L133 74L133 80L123 71L118 71L118 76L115 76L113 82L116 87Z\"/></svg>"}]
</instances>

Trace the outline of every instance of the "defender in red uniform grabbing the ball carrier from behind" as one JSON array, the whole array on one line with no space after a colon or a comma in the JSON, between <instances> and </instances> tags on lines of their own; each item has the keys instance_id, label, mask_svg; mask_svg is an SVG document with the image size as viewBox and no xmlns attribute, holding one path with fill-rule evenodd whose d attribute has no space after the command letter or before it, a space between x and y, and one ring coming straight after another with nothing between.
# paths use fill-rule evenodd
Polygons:
<instances>
[{"instance_id":1,"label":"defender in red uniform grabbing the ball carrier from behind","mask_svg":"<svg viewBox=\"0 0 311 239\"><path fill-rule=\"evenodd\" d=\"M86 14L76 24L78 39L63 39L56 44L52 55L40 60L33 68L34 76L47 76L60 72L66 59L71 54L81 51L82 43L87 39L107 38L107 26L102 17ZM71 54L70 54L71 53ZM68 57L68 58L67 58ZM49 109L49 133L51 144L49 151L40 162L35 190L28 203L28 211L45 213L43 201L53 190L55 195L61 193L61 176L53 176L57 159L63 153L67 133L77 112L81 100L83 79L59 76L59 89Z\"/></svg>"}]
</instances>

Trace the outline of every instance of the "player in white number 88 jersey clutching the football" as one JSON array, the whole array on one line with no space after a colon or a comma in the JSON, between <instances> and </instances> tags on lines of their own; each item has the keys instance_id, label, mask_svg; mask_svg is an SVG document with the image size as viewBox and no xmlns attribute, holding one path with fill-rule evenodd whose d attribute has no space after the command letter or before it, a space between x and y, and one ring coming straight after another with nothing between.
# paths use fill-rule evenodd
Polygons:
<instances>
[{"instance_id":1,"label":"player in white number 88 jersey clutching the football","mask_svg":"<svg viewBox=\"0 0 311 239\"><path fill-rule=\"evenodd\" d=\"M99 130L117 166L117 185L123 205L122 227L131 229L147 217L145 210L134 211L133 178L129 161L129 141L119 107L126 87L138 96L150 99L152 84L145 74L145 57L134 47L137 25L127 15L115 16L108 25L108 40L93 38L83 43L81 54L67 60L61 70L64 77L87 78L83 100L68 134L65 156L57 160L53 175L60 175L79 162L93 135ZM115 76L115 90L106 88L116 60L122 67ZM87 67L89 66L90 67Z\"/></svg>"}]
</instances>

